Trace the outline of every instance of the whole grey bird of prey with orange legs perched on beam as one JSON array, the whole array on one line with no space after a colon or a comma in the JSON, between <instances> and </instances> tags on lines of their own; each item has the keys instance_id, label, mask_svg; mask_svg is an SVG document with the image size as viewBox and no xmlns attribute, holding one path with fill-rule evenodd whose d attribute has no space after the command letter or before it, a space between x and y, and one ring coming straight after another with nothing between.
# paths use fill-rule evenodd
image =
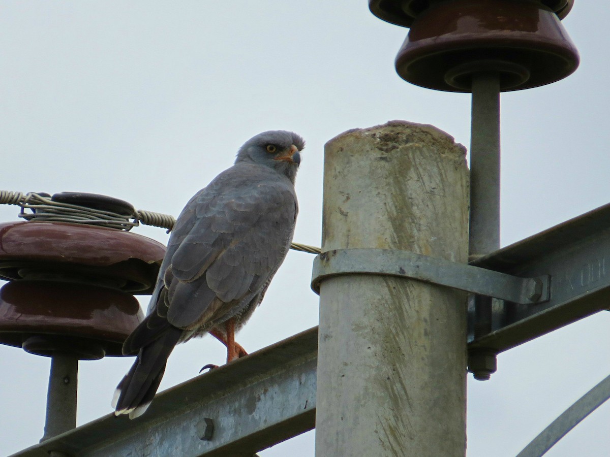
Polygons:
<instances>
[{"instance_id":1,"label":"whole grey bird of prey with orange legs perched on beam","mask_svg":"<svg viewBox=\"0 0 610 457\"><path fill-rule=\"evenodd\" d=\"M115 415L141 416L152 402L174 346L207 333L235 342L292 243L295 177L305 142L285 130L259 133L235 163L196 193L176 219L145 319L127 337L137 355L112 400Z\"/></svg>"}]
</instances>

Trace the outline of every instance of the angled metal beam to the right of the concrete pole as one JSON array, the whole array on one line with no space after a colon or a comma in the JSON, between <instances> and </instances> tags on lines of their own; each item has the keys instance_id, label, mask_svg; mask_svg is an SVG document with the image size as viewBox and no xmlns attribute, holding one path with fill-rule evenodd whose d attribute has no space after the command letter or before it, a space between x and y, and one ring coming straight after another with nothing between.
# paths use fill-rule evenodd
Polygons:
<instances>
[{"instance_id":1,"label":"angled metal beam to the right of the concrete pole","mask_svg":"<svg viewBox=\"0 0 610 457\"><path fill-rule=\"evenodd\" d=\"M551 227L470 263L520 277L550 275L550 299L535 305L494 300L492 331L469 348L499 352L537 338L610 303L610 204ZM472 317L474 309L468 313ZM472 322L471 322L472 324Z\"/></svg>"}]
</instances>

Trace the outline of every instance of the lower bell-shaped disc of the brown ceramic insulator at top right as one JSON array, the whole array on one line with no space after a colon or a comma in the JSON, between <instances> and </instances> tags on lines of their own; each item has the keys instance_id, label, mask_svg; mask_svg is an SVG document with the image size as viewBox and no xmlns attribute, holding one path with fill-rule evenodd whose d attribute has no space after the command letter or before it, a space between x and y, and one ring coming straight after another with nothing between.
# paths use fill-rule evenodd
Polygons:
<instances>
[{"instance_id":1,"label":"lower bell-shaped disc of the brown ceramic insulator at top right","mask_svg":"<svg viewBox=\"0 0 610 457\"><path fill-rule=\"evenodd\" d=\"M578 67L558 16L537 2L454 0L415 19L396 58L398 74L435 90L470 92L471 76L500 75L500 90L539 87Z\"/></svg>"}]
</instances>

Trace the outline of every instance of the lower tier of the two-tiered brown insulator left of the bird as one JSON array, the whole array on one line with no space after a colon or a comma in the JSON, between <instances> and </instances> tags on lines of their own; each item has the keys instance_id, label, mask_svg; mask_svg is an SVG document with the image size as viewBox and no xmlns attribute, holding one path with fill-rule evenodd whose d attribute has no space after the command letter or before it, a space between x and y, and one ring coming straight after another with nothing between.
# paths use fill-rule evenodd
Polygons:
<instances>
[{"instance_id":1,"label":"lower tier of the two-tiered brown insulator left of the bird","mask_svg":"<svg viewBox=\"0 0 610 457\"><path fill-rule=\"evenodd\" d=\"M0 289L0 343L50 356L119 356L143 314L134 296L95 285L20 280Z\"/></svg>"}]
</instances>

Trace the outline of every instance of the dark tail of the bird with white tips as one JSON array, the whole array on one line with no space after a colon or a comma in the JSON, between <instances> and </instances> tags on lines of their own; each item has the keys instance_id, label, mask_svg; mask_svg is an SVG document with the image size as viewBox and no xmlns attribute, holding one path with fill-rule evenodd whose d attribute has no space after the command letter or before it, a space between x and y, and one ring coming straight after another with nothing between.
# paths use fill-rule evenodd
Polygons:
<instances>
[{"instance_id":1,"label":"dark tail of the bird with white tips","mask_svg":"<svg viewBox=\"0 0 610 457\"><path fill-rule=\"evenodd\" d=\"M118 384L112 399L115 416L142 416L159 388L167 358L180 339L182 330L169 327L162 335L142 347L129 372Z\"/></svg>"}]
</instances>

